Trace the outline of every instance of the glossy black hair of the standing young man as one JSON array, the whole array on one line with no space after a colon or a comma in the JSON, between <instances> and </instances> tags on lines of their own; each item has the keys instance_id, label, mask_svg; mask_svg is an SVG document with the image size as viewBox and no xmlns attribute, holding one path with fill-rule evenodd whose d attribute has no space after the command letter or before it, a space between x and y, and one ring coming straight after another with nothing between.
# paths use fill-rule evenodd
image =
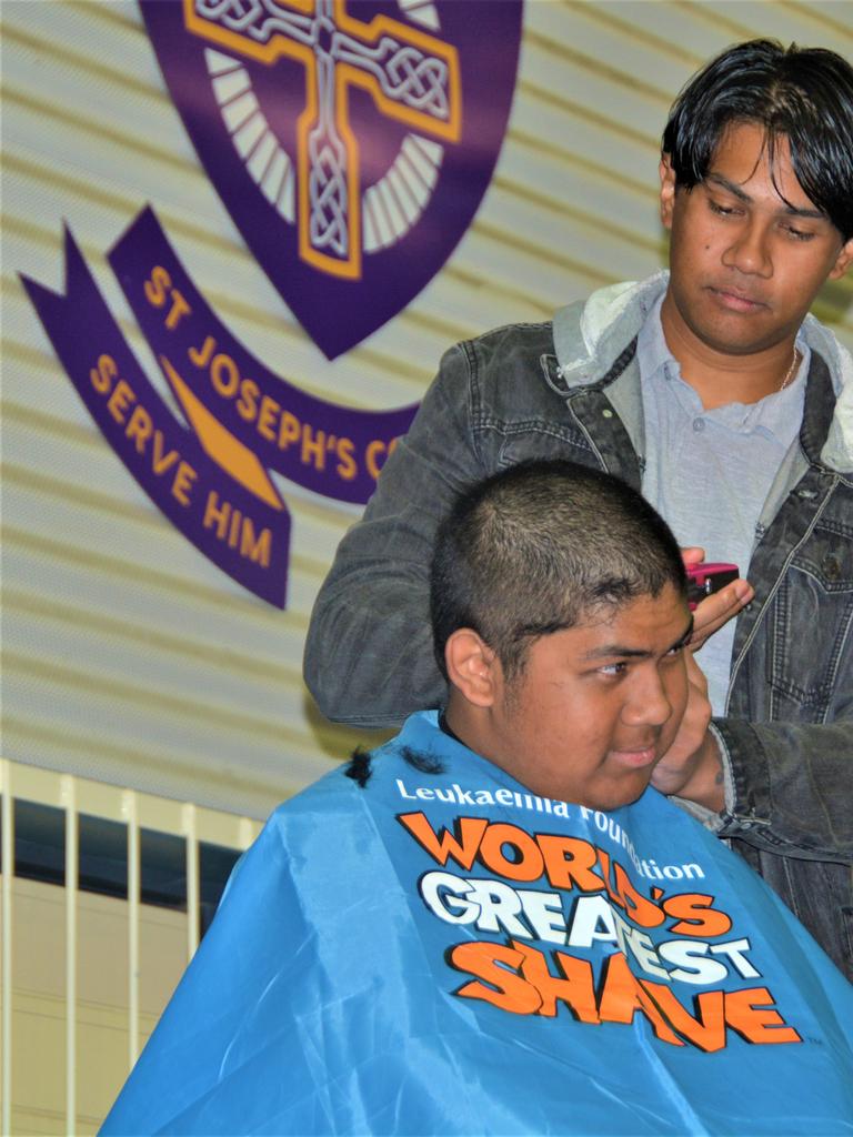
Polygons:
<instances>
[{"instance_id":1,"label":"glossy black hair of the standing young man","mask_svg":"<svg viewBox=\"0 0 853 1137\"><path fill-rule=\"evenodd\" d=\"M737 123L763 127L771 171L778 140L787 139L803 191L848 241L853 67L847 60L826 48L784 48L778 40L750 40L717 56L682 89L663 132L662 150L678 186L690 190L704 180L723 132Z\"/></svg>"}]
</instances>

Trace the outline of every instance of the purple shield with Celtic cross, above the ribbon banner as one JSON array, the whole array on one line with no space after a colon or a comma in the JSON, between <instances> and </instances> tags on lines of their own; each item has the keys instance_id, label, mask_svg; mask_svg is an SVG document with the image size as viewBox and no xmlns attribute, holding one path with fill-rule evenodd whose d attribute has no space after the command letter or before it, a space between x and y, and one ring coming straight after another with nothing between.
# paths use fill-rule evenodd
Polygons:
<instances>
[{"instance_id":1,"label":"purple shield with Celtic cross, above the ribbon banner","mask_svg":"<svg viewBox=\"0 0 853 1137\"><path fill-rule=\"evenodd\" d=\"M251 252L332 359L467 230L510 115L522 0L141 0Z\"/></svg>"}]
</instances>

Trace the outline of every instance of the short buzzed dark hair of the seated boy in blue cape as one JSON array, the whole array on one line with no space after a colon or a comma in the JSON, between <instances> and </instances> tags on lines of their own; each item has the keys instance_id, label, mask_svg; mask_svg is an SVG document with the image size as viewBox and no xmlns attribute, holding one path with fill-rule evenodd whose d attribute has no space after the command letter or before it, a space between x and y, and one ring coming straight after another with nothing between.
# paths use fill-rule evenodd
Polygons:
<instances>
[{"instance_id":1,"label":"short buzzed dark hair of the seated boy in blue cape","mask_svg":"<svg viewBox=\"0 0 853 1137\"><path fill-rule=\"evenodd\" d=\"M507 679L530 645L668 584L686 598L678 543L624 482L573 462L527 462L463 492L441 523L430 611L436 661L471 628Z\"/></svg>"}]
</instances>

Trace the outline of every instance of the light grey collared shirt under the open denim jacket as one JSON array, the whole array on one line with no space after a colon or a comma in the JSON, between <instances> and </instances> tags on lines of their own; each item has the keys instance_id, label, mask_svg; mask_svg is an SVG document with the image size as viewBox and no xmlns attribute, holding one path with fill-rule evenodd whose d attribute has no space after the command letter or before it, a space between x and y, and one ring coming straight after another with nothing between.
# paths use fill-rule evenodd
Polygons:
<instances>
[{"instance_id":1,"label":"light grey collared shirt under the open denim jacket","mask_svg":"<svg viewBox=\"0 0 853 1137\"><path fill-rule=\"evenodd\" d=\"M760 402L705 410L681 379L661 325L659 299L637 341L646 454L643 496L681 546L701 545L706 561L729 561L748 579L761 511L803 418L811 352L802 335L794 380ZM714 715L723 715L735 621L711 637L696 658L707 677Z\"/></svg>"}]
</instances>

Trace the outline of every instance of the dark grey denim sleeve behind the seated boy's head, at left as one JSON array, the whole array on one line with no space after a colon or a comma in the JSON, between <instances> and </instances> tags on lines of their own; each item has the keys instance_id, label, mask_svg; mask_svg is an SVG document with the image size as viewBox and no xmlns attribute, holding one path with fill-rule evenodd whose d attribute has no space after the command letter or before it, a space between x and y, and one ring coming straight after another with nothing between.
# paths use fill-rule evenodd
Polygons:
<instances>
[{"instance_id":1,"label":"dark grey denim sleeve behind the seated boy's head, at left","mask_svg":"<svg viewBox=\"0 0 853 1137\"><path fill-rule=\"evenodd\" d=\"M470 429L467 351L458 345L442 358L314 605L305 681L334 722L392 727L444 702L429 616L432 546L456 495L486 473Z\"/></svg>"}]
</instances>

